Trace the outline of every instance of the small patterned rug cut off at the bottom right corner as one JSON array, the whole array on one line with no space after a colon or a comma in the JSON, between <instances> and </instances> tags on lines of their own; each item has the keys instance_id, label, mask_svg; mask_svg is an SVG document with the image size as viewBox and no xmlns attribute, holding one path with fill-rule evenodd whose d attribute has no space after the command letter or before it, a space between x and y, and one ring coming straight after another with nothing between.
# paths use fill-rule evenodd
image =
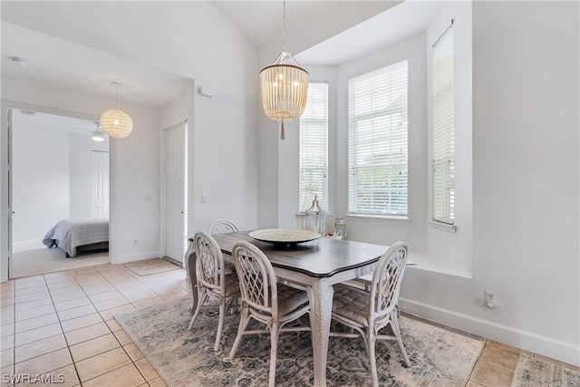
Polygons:
<instances>
[{"instance_id":1,"label":"small patterned rug cut off at the bottom right corner","mask_svg":"<svg viewBox=\"0 0 580 387\"><path fill-rule=\"evenodd\" d=\"M511 385L512 387L580 386L580 372L522 353L519 355Z\"/></svg>"}]
</instances>

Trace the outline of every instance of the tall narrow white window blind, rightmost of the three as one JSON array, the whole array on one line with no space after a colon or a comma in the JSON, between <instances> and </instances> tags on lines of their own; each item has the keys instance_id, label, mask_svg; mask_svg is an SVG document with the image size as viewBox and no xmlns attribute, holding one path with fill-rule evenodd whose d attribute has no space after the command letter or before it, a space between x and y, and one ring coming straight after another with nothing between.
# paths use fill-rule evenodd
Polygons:
<instances>
[{"instance_id":1,"label":"tall narrow white window blind, rightmost of the three","mask_svg":"<svg viewBox=\"0 0 580 387\"><path fill-rule=\"evenodd\" d=\"M455 121L453 29L433 44L433 220L455 218Z\"/></svg>"}]
</instances>

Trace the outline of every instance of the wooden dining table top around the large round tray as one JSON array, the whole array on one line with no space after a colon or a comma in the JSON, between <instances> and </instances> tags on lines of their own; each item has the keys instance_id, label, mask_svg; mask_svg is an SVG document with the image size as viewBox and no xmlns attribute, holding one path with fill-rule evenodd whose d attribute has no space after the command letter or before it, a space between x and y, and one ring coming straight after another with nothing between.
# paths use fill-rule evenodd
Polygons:
<instances>
[{"instance_id":1,"label":"wooden dining table top around the large round tray","mask_svg":"<svg viewBox=\"0 0 580 387\"><path fill-rule=\"evenodd\" d=\"M352 240L320 237L295 247L275 247L248 237L249 231L217 234L216 239L222 252L231 255L232 247L239 240L259 247L272 266L304 273L308 276L327 277L345 270L367 266L379 260L388 246L354 242Z\"/></svg>"}]
</instances>

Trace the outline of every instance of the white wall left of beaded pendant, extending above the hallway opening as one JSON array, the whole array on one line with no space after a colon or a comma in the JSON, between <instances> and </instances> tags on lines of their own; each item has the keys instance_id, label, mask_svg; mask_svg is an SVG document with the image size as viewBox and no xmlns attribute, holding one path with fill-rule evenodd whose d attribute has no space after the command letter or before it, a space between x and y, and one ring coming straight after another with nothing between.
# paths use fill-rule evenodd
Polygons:
<instances>
[{"instance_id":1,"label":"white wall left of beaded pendant, extending above the hallway opening","mask_svg":"<svg viewBox=\"0 0 580 387\"><path fill-rule=\"evenodd\" d=\"M193 134L189 136L189 211L193 214L189 233L207 230L217 218L231 218L243 228L256 227L256 49L215 5L67 3L58 9L38 5L36 12L69 16L83 28L77 32L73 24L51 24L41 17L35 29L178 73L194 79L196 87L210 89L212 98L200 96L197 90L189 90L188 96L195 99L195 113L189 114ZM157 23L160 15L176 28ZM111 28L103 30L100 20L105 19ZM207 203L201 203L201 194Z\"/></svg>"}]
</instances>

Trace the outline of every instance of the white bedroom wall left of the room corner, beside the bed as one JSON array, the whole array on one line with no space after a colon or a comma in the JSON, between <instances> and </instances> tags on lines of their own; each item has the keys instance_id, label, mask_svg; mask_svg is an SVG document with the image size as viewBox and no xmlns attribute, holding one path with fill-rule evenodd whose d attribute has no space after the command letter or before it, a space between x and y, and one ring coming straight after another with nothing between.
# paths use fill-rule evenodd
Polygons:
<instances>
[{"instance_id":1,"label":"white bedroom wall left of the room corner, beside the bed","mask_svg":"<svg viewBox=\"0 0 580 387\"><path fill-rule=\"evenodd\" d=\"M56 222L69 218L69 134L24 121L14 111L13 245L38 242ZM34 243L35 242L35 243Z\"/></svg>"}]
</instances>

